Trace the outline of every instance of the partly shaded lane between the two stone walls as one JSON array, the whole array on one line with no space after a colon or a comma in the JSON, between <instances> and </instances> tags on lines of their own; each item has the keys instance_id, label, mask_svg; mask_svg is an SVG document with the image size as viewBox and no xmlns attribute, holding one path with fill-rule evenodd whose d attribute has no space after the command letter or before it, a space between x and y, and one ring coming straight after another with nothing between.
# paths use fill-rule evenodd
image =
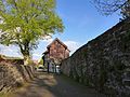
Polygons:
<instances>
[{"instance_id":1,"label":"partly shaded lane between the two stone walls","mask_svg":"<svg viewBox=\"0 0 130 97\"><path fill-rule=\"evenodd\" d=\"M39 73L38 79L10 97L105 97L64 75Z\"/></svg>"}]
</instances>

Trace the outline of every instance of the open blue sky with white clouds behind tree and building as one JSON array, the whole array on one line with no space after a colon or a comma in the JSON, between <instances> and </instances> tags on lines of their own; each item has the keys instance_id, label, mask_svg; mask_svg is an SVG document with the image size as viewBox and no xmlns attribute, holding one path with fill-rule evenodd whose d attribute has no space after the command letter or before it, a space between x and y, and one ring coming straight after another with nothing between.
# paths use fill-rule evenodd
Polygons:
<instances>
[{"instance_id":1,"label":"open blue sky with white clouds behind tree and building","mask_svg":"<svg viewBox=\"0 0 130 97\"><path fill-rule=\"evenodd\" d=\"M70 55L88 41L102 34L119 23L119 14L102 15L91 0L56 0L56 13L65 26L63 33L52 34L48 40L39 40L38 48L32 52L32 59L41 58L42 53L55 38L58 38L70 50ZM0 45L0 54L22 57L20 48L14 45Z\"/></svg>"}]
</instances>

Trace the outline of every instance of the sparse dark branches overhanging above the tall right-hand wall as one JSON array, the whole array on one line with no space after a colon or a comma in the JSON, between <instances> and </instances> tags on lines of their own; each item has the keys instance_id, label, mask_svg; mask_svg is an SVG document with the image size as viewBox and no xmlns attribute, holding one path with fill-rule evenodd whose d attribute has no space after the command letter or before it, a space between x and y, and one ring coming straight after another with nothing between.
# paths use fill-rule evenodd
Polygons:
<instances>
[{"instance_id":1,"label":"sparse dark branches overhanging above the tall right-hand wall","mask_svg":"<svg viewBox=\"0 0 130 97\"><path fill-rule=\"evenodd\" d=\"M93 3L105 15L120 10L123 18L130 17L130 0L93 0Z\"/></svg>"}]
</instances>

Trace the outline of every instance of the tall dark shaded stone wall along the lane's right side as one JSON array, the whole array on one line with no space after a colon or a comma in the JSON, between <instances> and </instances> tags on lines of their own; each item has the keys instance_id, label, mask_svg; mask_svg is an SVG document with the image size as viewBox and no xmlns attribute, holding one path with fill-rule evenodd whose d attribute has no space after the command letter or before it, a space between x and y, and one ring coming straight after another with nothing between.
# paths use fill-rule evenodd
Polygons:
<instances>
[{"instance_id":1,"label":"tall dark shaded stone wall along the lane's right side","mask_svg":"<svg viewBox=\"0 0 130 97\"><path fill-rule=\"evenodd\" d=\"M89 41L62 63L62 72L109 95L130 97L130 22Z\"/></svg>"}]
</instances>

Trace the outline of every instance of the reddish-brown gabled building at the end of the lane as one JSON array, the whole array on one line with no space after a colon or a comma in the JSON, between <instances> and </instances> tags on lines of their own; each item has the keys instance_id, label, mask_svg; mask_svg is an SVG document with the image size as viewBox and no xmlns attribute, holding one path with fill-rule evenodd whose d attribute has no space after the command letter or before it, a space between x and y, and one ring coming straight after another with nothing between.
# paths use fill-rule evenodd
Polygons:
<instances>
[{"instance_id":1,"label":"reddish-brown gabled building at the end of the lane","mask_svg":"<svg viewBox=\"0 0 130 97\"><path fill-rule=\"evenodd\" d=\"M43 66L48 68L48 72L56 72L56 66L60 66L61 61L69 57L68 47L60 41L57 38L47 46L47 51L43 53Z\"/></svg>"}]
</instances>

